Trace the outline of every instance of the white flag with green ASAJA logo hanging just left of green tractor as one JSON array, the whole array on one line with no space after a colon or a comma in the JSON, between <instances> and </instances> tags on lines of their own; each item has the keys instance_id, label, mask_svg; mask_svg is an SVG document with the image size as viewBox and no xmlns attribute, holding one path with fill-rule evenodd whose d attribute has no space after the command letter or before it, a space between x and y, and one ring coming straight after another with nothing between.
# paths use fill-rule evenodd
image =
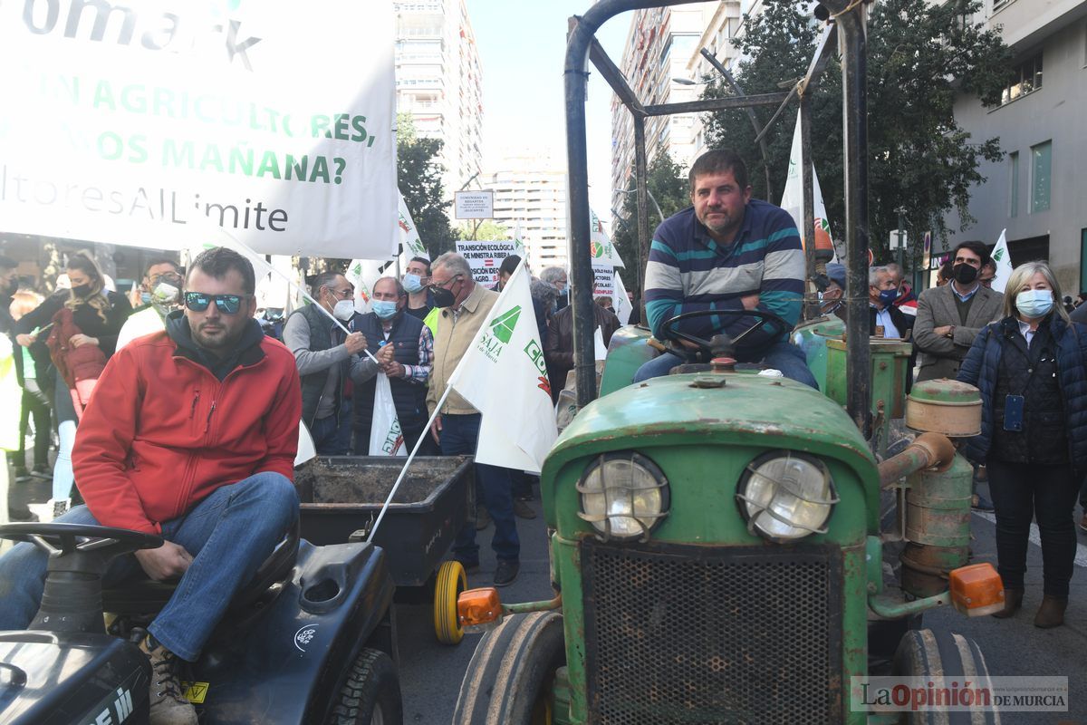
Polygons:
<instances>
[{"instance_id":1,"label":"white flag with green ASAJA logo hanging just left of green tractor","mask_svg":"<svg viewBox=\"0 0 1087 725\"><path fill-rule=\"evenodd\" d=\"M538 473L558 436L524 260L449 386L483 414L476 462Z\"/></svg>"}]
</instances>

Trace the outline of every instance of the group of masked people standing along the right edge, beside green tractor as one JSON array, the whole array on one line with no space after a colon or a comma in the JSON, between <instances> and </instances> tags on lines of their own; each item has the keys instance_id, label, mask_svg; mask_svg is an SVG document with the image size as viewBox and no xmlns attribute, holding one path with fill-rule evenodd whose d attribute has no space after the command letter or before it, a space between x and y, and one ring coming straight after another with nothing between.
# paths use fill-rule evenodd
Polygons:
<instances>
[{"instance_id":1,"label":"group of masked people standing along the right edge, beside green tractor","mask_svg":"<svg viewBox=\"0 0 1087 725\"><path fill-rule=\"evenodd\" d=\"M1076 555L1076 499L1087 532L1087 305L1061 293L1045 262L1027 262L992 289L996 264L986 247L963 242L939 270L937 285L916 298L892 265L869 271L871 333L912 339L920 358L914 382L958 379L978 388L982 433L969 439L976 466L972 505L996 517L1004 607L1023 604L1027 542L1037 522L1042 598L1034 623L1064 623ZM845 317L845 268L827 265L820 292L824 314ZM988 482L992 501L977 492Z\"/></svg>"}]
</instances>

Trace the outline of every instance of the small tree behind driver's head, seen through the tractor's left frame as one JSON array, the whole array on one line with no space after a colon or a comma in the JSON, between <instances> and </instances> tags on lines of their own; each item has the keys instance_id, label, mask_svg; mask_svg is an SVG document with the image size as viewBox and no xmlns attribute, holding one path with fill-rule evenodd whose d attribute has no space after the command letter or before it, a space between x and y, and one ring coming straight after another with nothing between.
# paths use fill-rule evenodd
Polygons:
<instances>
[{"instance_id":1,"label":"small tree behind driver's head, seen through the tractor's left frame","mask_svg":"<svg viewBox=\"0 0 1087 725\"><path fill-rule=\"evenodd\" d=\"M675 214L682 209L690 205L690 191L687 183L687 175L683 173L683 167L672 160L672 154L667 151L657 154L647 168L647 182L649 192L661 207L664 218ZM635 188L634 176L626 179L626 188ZM623 209L612 234L612 243L623 259L626 267L621 268L623 285L629 289L641 289L641 273L646 267L646 260L638 259L638 195L623 195ZM649 232L652 234L657 225L663 220L657 213L657 207L652 200L649 201Z\"/></svg>"}]
</instances>

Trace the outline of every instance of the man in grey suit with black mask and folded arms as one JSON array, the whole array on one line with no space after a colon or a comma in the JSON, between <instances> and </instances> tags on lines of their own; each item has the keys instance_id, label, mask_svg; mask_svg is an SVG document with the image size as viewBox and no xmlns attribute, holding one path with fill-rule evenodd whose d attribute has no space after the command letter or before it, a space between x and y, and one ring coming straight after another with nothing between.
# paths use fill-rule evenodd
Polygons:
<instances>
[{"instance_id":1,"label":"man in grey suit with black mask and folded arms","mask_svg":"<svg viewBox=\"0 0 1087 725\"><path fill-rule=\"evenodd\" d=\"M985 245L962 242L952 257L951 284L926 289L917 298L913 341L921 351L919 383L940 377L953 380L977 333L1000 318L1004 296L978 280L988 259Z\"/></svg>"}]
</instances>

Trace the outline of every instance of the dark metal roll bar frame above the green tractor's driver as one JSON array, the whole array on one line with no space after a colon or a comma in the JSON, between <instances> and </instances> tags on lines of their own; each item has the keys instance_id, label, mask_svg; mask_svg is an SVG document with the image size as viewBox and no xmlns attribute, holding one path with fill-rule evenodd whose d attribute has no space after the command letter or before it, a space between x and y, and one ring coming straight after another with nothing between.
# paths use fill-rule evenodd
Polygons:
<instances>
[{"instance_id":1,"label":"dark metal roll bar frame above the green tractor's driver","mask_svg":"<svg viewBox=\"0 0 1087 725\"><path fill-rule=\"evenodd\" d=\"M570 260L574 295L574 368L577 372L577 405L584 408L596 398L596 370L592 330L592 265L589 251L589 178L587 143L585 136L585 97L588 86L587 62L591 60L608 85L634 116L635 179L637 184L637 229L639 274L649 257L649 199L647 195L648 163L646 159L645 120L648 116L673 113L716 111L726 108L784 103L794 93L800 97L801 136L803 147L803 183L811 189L810 120L807 111L807 91L814 88L819 75L826 67L835 45L834 27L840 33L842 51L842 84L845 87L842 115L846 138L846 247L847 247L847 375L854 380L849 390L847 409L865 437L871 432L871 357L867 345L855 341L869 338L867 329L867 133L865 76L864 5L859 0L822 0L835 17L835 26L824 32L819 49L812 59L808 75L788 93L738 96L705 99L686 103L644 105L623 77L620 68L608 58L596 39L596 32L615 15L649 8L690 4L704 0L599 0L585 15L571 18L563 67L566 101L566 163L569 174ZM769 125L769 124L767 124ZM805 193L804 233L814 240L814 218L811 195ZM814 241L808 245L814 250ZM808 277L814 274L813 251L807 254ZM640 288L640 286L639 286ZM642 296L642 302L645 301Z\"/></svg>"}]
</instances>

